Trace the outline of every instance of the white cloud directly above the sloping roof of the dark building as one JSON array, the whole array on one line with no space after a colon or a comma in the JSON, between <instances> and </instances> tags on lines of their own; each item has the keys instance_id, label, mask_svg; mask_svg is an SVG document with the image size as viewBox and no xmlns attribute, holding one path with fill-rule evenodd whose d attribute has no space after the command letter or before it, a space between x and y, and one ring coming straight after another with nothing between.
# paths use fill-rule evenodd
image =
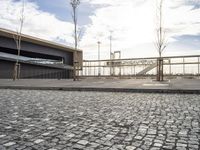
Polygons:
<instances>
[{"instance_id":1,"label":"white cloud directly above the sloping roof of the dark building","mask_svg":"<svg viewBox=\"0 0 200 150\"><path fill-rule=\"evenodd\" d=\"M21 2L1 0L0 27L16 31L19 28ZM53 14L39 10L33 2L25 2L23 33L42 39L73 43L73 25L60 21Z\"/></svg>"}]
</instances>

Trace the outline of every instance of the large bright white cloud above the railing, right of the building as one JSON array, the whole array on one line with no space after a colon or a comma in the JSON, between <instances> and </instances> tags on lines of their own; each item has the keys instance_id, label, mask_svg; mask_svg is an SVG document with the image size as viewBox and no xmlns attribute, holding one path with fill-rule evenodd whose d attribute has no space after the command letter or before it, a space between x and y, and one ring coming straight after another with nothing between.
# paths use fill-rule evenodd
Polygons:
<instances>
[{"instance_id":1,"label":"large bright white cloud above the railing, right of the building","mask_svg":"<svg viewBox=\"0 0 200 150\"><path fill-rule=\"evenodd\" d=\"M86 58L97 58L98 40L102 41L102 57L109 58L109 30L113 30L113 50L121 50L122 56L158 55L153 44L156 28L156 0L87 1L102 7L90 16L92 23L86 27L86 33L81 41L82 49L87 52ZM193 6L186 5L185 0L165 1L164 18L165 27L169 29L167 33L169 45L175 40L173 36L200 33L200 23L197 23L200 9L192 8Z\"/></svg>"}]
</instances>

